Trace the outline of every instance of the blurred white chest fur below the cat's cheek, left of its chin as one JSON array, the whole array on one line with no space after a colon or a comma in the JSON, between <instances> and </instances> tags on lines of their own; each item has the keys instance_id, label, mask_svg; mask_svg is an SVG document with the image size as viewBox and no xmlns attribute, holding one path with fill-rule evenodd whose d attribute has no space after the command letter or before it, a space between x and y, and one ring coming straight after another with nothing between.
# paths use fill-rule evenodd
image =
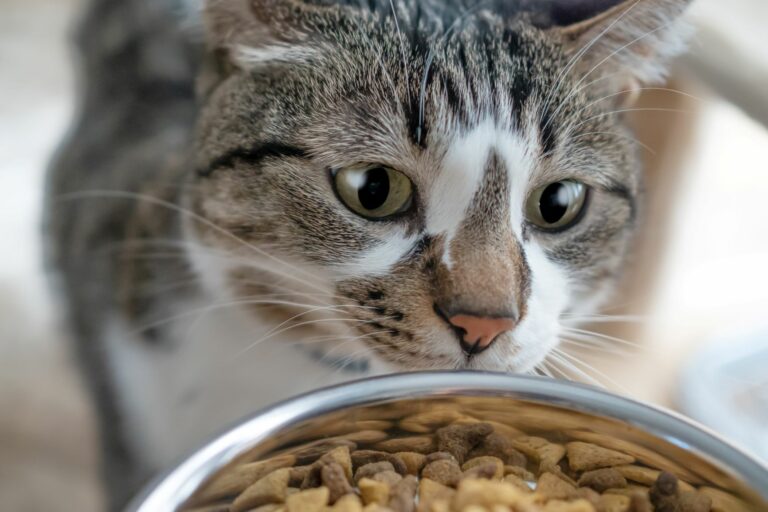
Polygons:
<instances>
[{"instance_id":1,"label":"blurred white chest fur below the cat's cheek, left of its chin","mask_svg":"<svg viewBox=\"0 0 768 512\"><path fill-rule=\"evenodd\" d=\"M164 342L172 349L153 348L117 319L105 329L125 432L149 470L168 469L225 427L278 400L359 378L299 351L295 331L264 339L271 327L248 312L208 305L200 299L177 304L178 318L165 325ZM349 339L326 352L339 358L367 349Z\"/></svg>"}]
</instances>

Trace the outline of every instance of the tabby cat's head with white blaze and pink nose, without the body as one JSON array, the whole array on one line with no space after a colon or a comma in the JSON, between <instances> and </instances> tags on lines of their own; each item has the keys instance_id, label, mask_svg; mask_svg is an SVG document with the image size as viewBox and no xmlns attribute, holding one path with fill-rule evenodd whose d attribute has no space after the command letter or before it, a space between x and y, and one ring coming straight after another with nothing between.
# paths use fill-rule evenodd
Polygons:
<instances>
[{"instance_id":1,"label":"tabby cat's head with white blaze and pink nose, without the body","mask_svg":"<svg viewBox=\"0 0 768 512\"><path fill-rule=\"evenodd\" d=\"M622 269L622 112L687 3L210 0L191 236L237 257L200 271L401 368L532 369Z\"/></svg>"}]
</instances>

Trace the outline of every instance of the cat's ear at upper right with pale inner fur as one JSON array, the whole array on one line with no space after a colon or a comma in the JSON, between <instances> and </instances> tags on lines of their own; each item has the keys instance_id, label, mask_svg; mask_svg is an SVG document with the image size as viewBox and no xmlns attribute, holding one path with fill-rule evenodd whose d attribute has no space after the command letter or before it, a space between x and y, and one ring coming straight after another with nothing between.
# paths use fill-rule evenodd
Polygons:
<instances>
[{"instance_id":1,"label":"cat's ear at upper right with pale inner fur","mask_svg":"<svg viewBox=\"0 0 768 512\"><path fill-rule=\"evenodd\" d=\"M685 46L691 0L552 0L550 28L577 71L615 87L661 80ZM615 78L611 78L611 76Z\"/></svg>"}]
</instances>

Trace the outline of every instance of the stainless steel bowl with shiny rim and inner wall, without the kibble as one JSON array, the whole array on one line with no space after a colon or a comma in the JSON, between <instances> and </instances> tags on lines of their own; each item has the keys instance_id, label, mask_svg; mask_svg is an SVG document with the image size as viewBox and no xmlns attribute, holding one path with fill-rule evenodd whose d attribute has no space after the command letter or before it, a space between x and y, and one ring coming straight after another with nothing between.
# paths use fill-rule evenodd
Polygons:
<instances>
[{"instance_id":1,"label":"stainless steel bowl with shiny rim and inner wall, without the kibble","mask_svg":"<svg viewBox=\"0 0 768 512\"><path fill-rule=\"evenodd\" d=\"M670 469L691 483L726 491L748 510L768 511L768 468L681 416L570 382L477 372L373 378L275 405L198 450L128 510L181 510L232 465L354 430L357 421L399 420L436 409L564 441L604 440L632 450L638 460L653 459L649 465Z\"/></svg>"}]
</instances>

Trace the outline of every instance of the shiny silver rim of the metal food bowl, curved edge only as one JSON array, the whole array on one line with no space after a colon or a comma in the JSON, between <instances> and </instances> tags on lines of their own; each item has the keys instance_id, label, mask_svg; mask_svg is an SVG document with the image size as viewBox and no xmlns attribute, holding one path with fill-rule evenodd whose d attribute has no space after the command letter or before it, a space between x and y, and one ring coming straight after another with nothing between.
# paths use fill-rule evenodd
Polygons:
<instances>
[{"instance_id":1,"label":"shiny silver rim of the metal food bowl, curved edge only","mask_svg":"<svg viewBox=\"0 0 768 512\"><path fill-rule=\"evenodd\" d=\"M216 436L148 485L127 511L176 510L216 471L274 432L303 420L391 400L508 396L624 421L693 451L739 477L768 501L768 466L690 418L572 381L479 371L427 371L368 377L273 404Z\"/></svg>"}]
</instances>

